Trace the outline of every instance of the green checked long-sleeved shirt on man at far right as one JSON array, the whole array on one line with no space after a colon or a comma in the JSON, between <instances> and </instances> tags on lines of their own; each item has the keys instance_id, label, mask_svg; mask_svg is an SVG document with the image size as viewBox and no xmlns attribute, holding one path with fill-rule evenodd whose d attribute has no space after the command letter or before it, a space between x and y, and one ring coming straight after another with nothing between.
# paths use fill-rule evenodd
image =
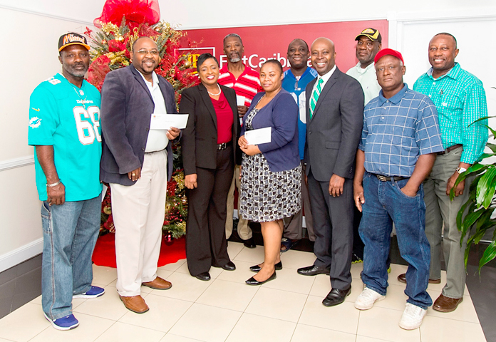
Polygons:
<instances>
[{"instance_id":1,"label":"green checked long-sleeved shirt on man at far right","mask_svg":"<svg viewBox=\"0 0 496 342\"><path fill-rule=\"evenodd\" d=\"M433 78L433 68L418 78L413 90L428 95L438 110L443 147L462 144L461 162L473 164L482 155L488 138L486 95L482 82L455 66L443 76ZM470 125L470 127L469 127Z\"/></svg>"}]
</instances>

